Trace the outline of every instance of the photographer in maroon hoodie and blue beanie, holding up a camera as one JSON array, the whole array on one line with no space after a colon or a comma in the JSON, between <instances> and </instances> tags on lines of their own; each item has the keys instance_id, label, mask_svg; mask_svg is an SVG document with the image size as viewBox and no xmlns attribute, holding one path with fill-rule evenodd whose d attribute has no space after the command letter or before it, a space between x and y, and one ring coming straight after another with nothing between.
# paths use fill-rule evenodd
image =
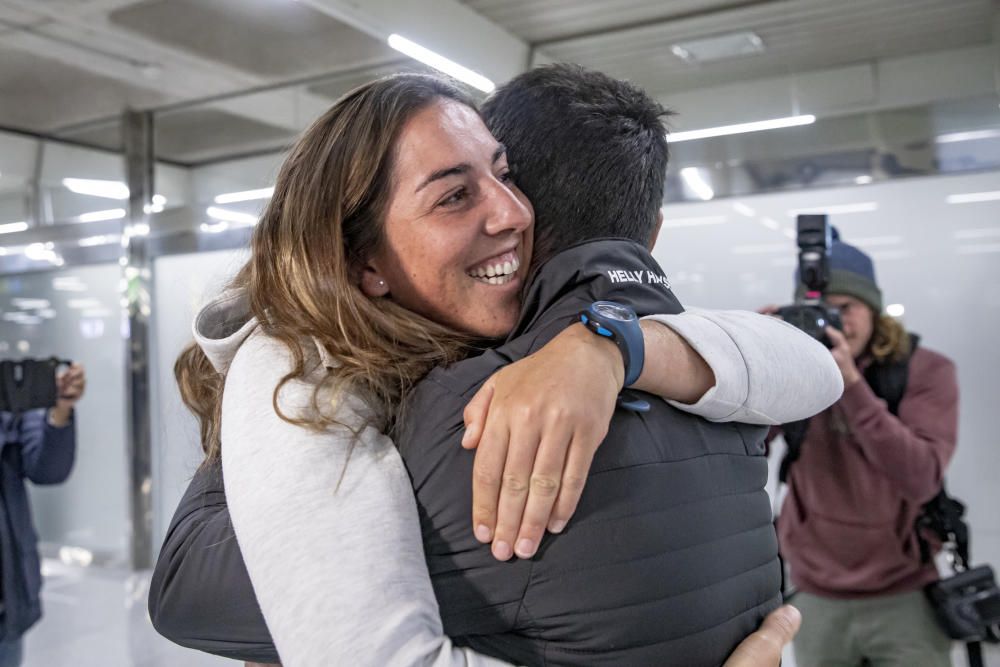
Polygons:
<instances>
[{"instance_id":1,"label":"photographer in maroon hoodie and blue beanie, holding up a camera","mask_svg":"<svg viewBox=\"0 0 1000 667\"><path fill-rule=\"evenodd\" d=\"M778 536L802 612L796 662L950 665L950 640L922 592L938 573L915 520L955 451L955 366L881 314L871 258L836 236L824 300L843 322L826 334L844 394L803 436L785 427ZM889 373L905 389L887 390Z\"/></svg>"}]
</instances>

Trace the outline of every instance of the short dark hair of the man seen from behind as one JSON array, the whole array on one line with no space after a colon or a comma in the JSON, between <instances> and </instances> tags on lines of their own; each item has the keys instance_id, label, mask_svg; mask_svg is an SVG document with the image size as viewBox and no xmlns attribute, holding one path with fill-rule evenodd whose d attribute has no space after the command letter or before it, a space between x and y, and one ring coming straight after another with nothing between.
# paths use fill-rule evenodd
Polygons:
<instances>
[{"instance_id":1,"label":"short dark hair of the man seen from behind","mask_svg":"<svg viewBox=\"0 0 1000 667\"><path fill-rule=\"evenodd\" d=\"M663 201L669 113L626 81L569 64L514 77L483 104L535 207L534 266L588 239L650 241Z\"/></svg>"}]
</instances>

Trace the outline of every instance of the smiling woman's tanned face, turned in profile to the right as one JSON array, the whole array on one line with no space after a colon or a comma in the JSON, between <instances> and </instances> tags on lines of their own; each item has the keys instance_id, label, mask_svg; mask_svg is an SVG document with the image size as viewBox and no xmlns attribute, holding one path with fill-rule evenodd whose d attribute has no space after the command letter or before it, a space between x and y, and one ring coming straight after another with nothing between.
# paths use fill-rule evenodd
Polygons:
<instances>
[{"instance_id":1,"label":"smiling woman's tanned face, turned in profile to the right","mask_svg":"<svg viewBox=\"0 0 1000 667\"><path fill-rule=\"evenodd\" d=\"M364 292L477 336L510 332L534 214L478 114L441 100L414 115L396 145L391 188Z\"/></svg>"}]
</instances>

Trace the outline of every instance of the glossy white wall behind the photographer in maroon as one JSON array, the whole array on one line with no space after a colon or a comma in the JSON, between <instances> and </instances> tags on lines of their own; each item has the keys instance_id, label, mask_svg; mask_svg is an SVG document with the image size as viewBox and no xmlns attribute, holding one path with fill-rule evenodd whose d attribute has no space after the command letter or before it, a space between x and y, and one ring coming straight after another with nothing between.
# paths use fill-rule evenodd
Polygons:
<instances>
[{"instance_id":1,"label":"glossy white wall behind the photographer in maroon","mask_svg":"<svg viewBox=\"0 0 1000 667\"><path fill-rule=\"evenodd\" d=\"M1000 405L1000 199L949 204L946 198L998 191L1000 173L992 172L668 205L654 250L682 303L746 309L789 303L797 253L790 212L874 209L834 212L830 221L845 241L871 254L884 301L905 306L907 328L958 366L959 445L948 484L969 506L974 560L994 566L1000 565L1000 435L993 421Z\"/></svg>"}]
</instances>

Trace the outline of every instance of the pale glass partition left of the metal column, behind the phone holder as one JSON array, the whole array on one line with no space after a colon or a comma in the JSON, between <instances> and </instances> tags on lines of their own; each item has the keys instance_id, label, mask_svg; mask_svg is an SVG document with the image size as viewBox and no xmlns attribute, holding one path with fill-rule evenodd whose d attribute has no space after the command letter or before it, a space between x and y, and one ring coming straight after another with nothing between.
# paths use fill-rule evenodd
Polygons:
<instances>
[{"instance_id":1,"label":"pale glass partition left of the metal column, behind the phone holder","mask_svg":"<svg viewBox=\"0 0 1000 667\"><path fill-rule=\"evenodd\" d=\"M87 372L69 480L29 484L43 553L84 565L127 561L120 279L117 263L0 278L0 358L57 356Z\"/></svg>"}]
</instances>

